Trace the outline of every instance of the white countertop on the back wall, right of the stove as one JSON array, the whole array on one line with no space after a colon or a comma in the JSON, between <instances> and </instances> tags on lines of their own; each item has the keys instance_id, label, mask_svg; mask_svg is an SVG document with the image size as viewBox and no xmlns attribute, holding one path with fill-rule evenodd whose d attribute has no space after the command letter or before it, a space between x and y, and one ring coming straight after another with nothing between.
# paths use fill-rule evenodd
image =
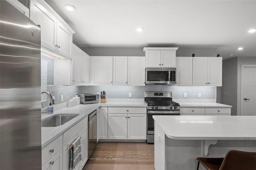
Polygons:
<instances>
[{"instance_id":1,"label":"white countertop on the back wall, right of the stove","mask_svg":"<svg viewBox=\"0 0 256 170\"><path fill-rule=\"evenodd\" d=\"M180 102L179 104L180 104L180 107L232 107L226 104L219 104L219 103Z\"/></svg>"}]
</instances>

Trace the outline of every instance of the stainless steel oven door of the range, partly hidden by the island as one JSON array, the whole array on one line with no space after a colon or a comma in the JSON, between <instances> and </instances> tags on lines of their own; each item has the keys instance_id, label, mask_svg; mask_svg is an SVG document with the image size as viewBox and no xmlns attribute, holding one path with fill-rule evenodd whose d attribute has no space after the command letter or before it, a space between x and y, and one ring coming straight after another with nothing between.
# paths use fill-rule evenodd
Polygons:
<instances>
[{"instance_id":1,"label":"stainless steel oven door of the range, partly hidden by the island","mask_svg":"<svg viewBox=\"0 0 256 170\"><path fill-rule=\"evenodd\" d=\"M180 115L179 110L168 110L168 111L154 111L148 110L147 112L147 134L154 134L154 119L153 115Z\"/></svg>"}]
</instances>

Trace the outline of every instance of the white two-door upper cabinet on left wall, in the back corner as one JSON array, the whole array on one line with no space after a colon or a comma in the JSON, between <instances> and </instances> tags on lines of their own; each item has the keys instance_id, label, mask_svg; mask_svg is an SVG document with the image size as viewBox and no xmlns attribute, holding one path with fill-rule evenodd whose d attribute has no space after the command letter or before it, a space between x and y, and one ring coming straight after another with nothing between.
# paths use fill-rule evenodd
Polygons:
<instances>
[{"instance_id":1,"label":"white two-door upper cabinet on left wall, in the back corner","mask_svg":"<svg viewBox=\"0 0 256 170\"><path fill-rule=\"evenodd\" d=\"M90 75L90 56L73 44L72 85L88 85L89 75Z\"/></svg>"}]
</instances>

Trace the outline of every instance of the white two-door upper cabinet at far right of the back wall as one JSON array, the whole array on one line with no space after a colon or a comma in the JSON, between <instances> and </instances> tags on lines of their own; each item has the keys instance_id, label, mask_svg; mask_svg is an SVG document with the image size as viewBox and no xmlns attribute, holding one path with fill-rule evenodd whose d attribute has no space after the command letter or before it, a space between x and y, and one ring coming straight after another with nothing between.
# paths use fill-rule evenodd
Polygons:
<instances>
[{"instance_id":1,"label":"white two-door upper cabinet at far right of the back wall","mask_svg":"<svg viewBox=\"0 0 256 170\"><path fill-rule=\"evenodd\" d=\"M194 86L222 86L222 57L193 57Z\"/></svg>"}]
</instances>

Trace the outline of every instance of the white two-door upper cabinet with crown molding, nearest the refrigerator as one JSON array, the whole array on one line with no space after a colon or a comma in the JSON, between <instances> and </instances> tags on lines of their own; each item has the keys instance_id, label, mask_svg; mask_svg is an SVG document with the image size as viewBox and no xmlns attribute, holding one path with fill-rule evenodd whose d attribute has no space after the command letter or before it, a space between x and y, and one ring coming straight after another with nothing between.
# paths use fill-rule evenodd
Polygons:
<instances>
[{"instance_id":1,"label":"white two-door upper cabinet with crown molding, nearest the refrigerator","mask_svg":"<svg viewBox=\"0 0 256 170\"><path fill-rule=\"evenodd\" d=\"M41 45L71 57L74 30L43 0L30 1L30 19L41 27Z\"/></svg>"}]
</instances>

